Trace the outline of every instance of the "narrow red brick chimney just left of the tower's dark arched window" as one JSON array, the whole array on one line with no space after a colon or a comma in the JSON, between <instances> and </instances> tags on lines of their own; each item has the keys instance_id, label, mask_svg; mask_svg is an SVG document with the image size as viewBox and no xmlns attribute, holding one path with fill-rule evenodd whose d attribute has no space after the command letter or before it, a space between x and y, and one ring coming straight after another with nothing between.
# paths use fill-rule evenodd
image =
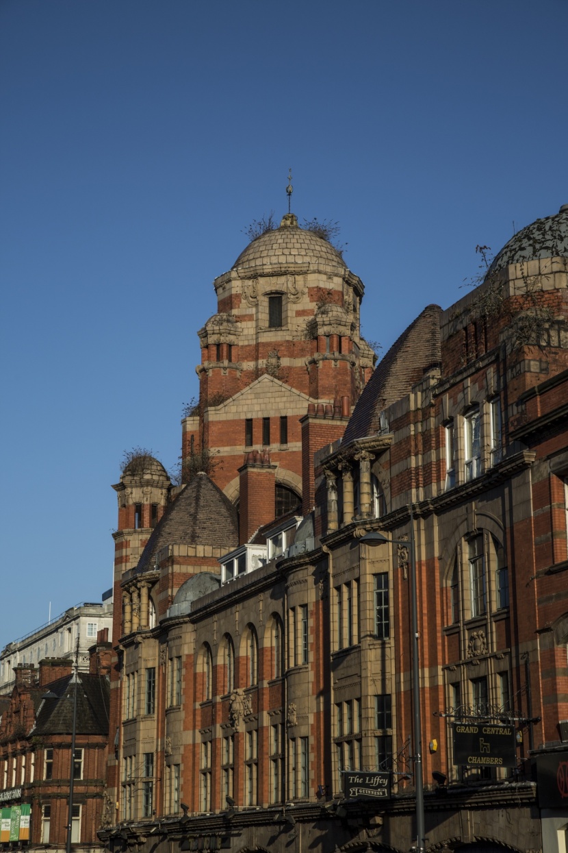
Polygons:
<instances>
[{"instance_id":1,"label":"narrow red brick chimney just left of the tower's dark arched window","mask_svg":"<svg viewBox=\"0 0 568 853\"><path fill-rule=\"evenodd\" d=\"M244 545L276 515L276 465L267 450L251 450L238 469L238 543Z\"/></svg>"}]
</instances>

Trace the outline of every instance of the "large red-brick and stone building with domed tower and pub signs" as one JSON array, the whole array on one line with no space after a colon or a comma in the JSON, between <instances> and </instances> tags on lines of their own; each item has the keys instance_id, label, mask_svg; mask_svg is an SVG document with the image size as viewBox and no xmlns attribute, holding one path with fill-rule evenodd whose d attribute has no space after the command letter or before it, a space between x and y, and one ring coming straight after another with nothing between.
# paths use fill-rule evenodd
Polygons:
<instances>
[{"instance_id":1,"label":"large red-brick and stone building with domed tower and pub signs","mask_svg":"<svg viewBox=\"0 0 568 853\"><path fill-rule=\"evenodd\" d=\"M215 280L186 485L115 486L109 849L410 848L413 533L426 847L565 850L567 256L565 206L374 372L362 283L293 215ZM456 725L513 758L458 763Z\"/></svg>"}]
</instances>

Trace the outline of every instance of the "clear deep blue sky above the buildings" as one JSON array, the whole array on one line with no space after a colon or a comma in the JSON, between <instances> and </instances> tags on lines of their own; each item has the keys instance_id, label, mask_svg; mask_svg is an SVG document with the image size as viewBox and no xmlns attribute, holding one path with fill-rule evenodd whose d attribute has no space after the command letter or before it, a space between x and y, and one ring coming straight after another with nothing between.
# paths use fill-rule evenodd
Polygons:
<instances>
[{"instance_id":1,"label":"clear deep blue sky above the buildings","mask_svg":"<svg viewBox=\"0 0 568 853\"><path fill-rule=\"evenodd\" d=\"M211 282L341 223L393 343L568 202L565 0L0 0L0 647L112 583L123 450L180 453Z\"/></svg>"}]
</instances>

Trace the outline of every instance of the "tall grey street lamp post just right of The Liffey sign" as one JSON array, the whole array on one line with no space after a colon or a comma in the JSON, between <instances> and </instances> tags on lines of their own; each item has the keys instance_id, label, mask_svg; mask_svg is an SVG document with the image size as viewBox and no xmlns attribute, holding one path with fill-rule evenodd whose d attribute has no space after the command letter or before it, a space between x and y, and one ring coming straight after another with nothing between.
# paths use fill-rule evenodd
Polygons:
<instances>
[{"instance_id":1,"label":"tall grey street lamp post just right of The Liffey sign","mask_svg":"<svg viewBox=\"0 0 568 853\"><path fill-rule=\"evenodd\" d=\"M410 504L410 541L387 539L378 531L371 531L360 538L359 542L380 545L392 543L409 548L410 562L410 621L412 645L412 702L414 705L414 785L416 789L416 853L425 851L424 826L424 780L422 777L422 718L420 711L420 668L418 660L418 601L416 595L416 542L414 537L414 515Z\"/></svg>"}]
</instances>

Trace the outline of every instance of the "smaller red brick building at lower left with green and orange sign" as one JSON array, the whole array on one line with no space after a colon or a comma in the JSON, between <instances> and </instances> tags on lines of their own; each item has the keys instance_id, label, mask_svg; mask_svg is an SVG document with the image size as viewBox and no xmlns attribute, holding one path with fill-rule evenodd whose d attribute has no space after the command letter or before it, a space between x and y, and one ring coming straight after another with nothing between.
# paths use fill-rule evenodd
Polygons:
<instances>
[{"instance_id":1,"label":"smaller red brick building at lower left with green and orange sign","mask_svg":"<svg viewBox=\"0 0 568 853\"><path fill-rule=\"evenodd\" d=\"M0 843L5 848L66 849L73 773L73 847L101 849L96 833L106 808L111 657L106 635L108 630L101 631L90 649L89 672L78 673L73 760L72 661L47 658L38 667L14 668L14 688L0 699Z\"/></svg>"}]
</instances>

